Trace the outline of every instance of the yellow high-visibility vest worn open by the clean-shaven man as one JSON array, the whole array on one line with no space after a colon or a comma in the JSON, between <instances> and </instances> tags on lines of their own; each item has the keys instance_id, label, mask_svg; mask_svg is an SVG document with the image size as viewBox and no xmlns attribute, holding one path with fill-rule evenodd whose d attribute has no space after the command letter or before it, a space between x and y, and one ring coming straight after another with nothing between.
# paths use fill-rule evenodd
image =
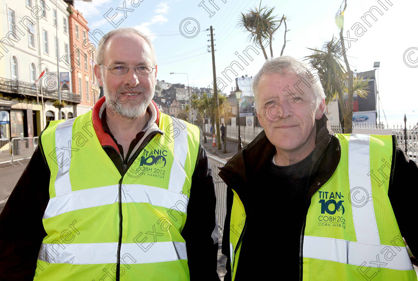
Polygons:
<instances>
[{"instance_id":1,"label":"yellow high-visibility vest worn open by the clean-shaven man","mask_svg":"<svg viewBox=\"0 0 418 281\"><path fill-rule=\"evenodd\" d=\"M303 280L417 280L388 197L392 136L336 136L341 159L306 217ZM245 233L245 209L233 194L232 280Z\"/></svg>"}]
</instances>

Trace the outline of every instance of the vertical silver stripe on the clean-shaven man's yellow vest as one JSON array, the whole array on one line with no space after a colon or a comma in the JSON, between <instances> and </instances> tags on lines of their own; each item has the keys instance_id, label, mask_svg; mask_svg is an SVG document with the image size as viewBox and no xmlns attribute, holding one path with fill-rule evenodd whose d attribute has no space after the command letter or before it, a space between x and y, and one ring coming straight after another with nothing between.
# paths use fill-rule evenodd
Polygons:
<instances>
[{"instance_id":1,"label":"vertical silver stripe on the clean-shaven man's yellow vest","mask_svg":"<svg viewBox=\"0 0 418 281\"><path fill-rule=\"evenodd\" d=\"M348 177L350 181L350 195L353 196L351 206L357 242L380 245L379 231L377 230L373 208L369 142L369 135L350 136L348 144ZM356 198L356 195L360 198ZM361 198L368 200L362 202ZM357 200L360 201L357 202Z\"/></svg>"}]
</instances>

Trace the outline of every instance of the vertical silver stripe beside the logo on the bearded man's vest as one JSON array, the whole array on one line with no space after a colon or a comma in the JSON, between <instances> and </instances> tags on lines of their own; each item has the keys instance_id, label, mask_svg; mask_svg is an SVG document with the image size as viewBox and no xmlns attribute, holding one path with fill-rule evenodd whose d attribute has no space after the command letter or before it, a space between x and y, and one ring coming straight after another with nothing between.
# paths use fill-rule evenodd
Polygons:
<instances>
[{"instance_id":1,"label":"vertical silver stripe beside the logo on the bearded man's vest","mask_svg":"<svg viewBox=\"0 0 418 281\"><path fill-rule=\"evenodd\" d=\"M171 167L168 190L180 193L186 180L186 163L188 152L187 127L183 120L172 118L174 125L174 160ZM198 156L199 157L199 156Z\"/></svg>"}]
</instances>

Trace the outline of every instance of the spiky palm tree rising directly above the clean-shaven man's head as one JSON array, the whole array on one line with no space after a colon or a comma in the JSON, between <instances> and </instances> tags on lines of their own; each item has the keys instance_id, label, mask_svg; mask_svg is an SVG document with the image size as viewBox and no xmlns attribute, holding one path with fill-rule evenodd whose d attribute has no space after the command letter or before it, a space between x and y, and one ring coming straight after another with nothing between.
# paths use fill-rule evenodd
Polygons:
<instances>
[{"instance_id":1,"label":"spiky palm tree rising directly above the clean-shaven man's head","mask_svg":"<svg viewBox=\"0 0 418 281\"><path fill-rule=\"evenodd\" d=\"M283 55L283 51L286 46L286 32L288 31L286 25L286 16L283 15L280 20L276 15L273 15L274 7L268 8L267 6L261 7L261 0L259 6L255 6L253 9L247 11L247 13L241 12L241 17L238 21L238 26L244 28L250 34L248 38L252 40L254 44L258 44L263 51L264 58L267 60L267 53L265 47L267 43L263 41L268 41L270 44L270 56L273 57L273 35L279 29L282 22L285 24L285 35L284 35L284 44L282 52L280 55Z\"/></svg>"}]
</instances>

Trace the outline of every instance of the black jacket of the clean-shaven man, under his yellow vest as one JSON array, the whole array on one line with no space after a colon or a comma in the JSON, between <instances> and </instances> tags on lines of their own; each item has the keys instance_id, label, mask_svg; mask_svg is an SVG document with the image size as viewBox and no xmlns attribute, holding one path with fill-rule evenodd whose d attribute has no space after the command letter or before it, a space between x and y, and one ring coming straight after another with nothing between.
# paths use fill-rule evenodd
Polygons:
<instances>
[{"instance_id":1,"label":"black jacket of the clean-shaven man, under his yellow vest","mask_svg":"<svg viewBox=\"0 0 418 281\"><path fill-rule=\"evenodd\" d=\"M308 186L306 188L307 200L306 202L298 203L299 205L302 204L301 207L304 208L306 212L311 203L312 195L332 176L341 157L339 140L337 137L332 135L331 129L325 116L316 122L316 132L316 146L312 154L311 166L309 167L310 172ZM414 214L417 213L418 188L416 185L411 184L411 181L414 180L412 175L418 173L418 166L414 161L409 160L405 153L396 146L396 139L394 136L393 143L394 159L392 162L392 172L389 184L389 198L394 209L401 234L407 241L408 246L412 252L418 253L418 242L416 239L417 235L415 233L415 223L413 221ZM264 186L260 183L261 179L258 175L265 173L266 163L271 162L275 153L276 148L267 139L263 131L256 137L256 139L254 139L243 149L241 149L236 155L234 155L225 164L224 167L220 168L219 176L228 185L226 218L222 238L222 253L227 257L227 274L224 279L225 281L231 279L229 254L229 223L233 197L231 189L237 193L240 200L242 201L248 218L248 215L251 216L251 213L254 213L250 204L250 201L254 196L254 192L261 192L261 196L266 198L272 196L265 191L267 186ZM277 198L277 202L278 204L283 204L280 198ZM275 212L274 210L269 210L266 208L265 213L267 215ZM286 232L288 230L282 229L280 231ZM302 229L300 229L298 233L303 233ZM245 239L245 234L243 239ZM275 236L274 239L280 243L283 242L280 237ZM249 242L251 241L247 241L246 243ZM298 249L296 249L296 247L292 247L293 246L285 246L284 248L286 251L297 251L296 255L299 256L302 248L298 247ZM275 252L275 250L277 249L270 249L271 252ZM243 249L241 249L241 251L243 251ZM286 253L286 251L281 253L282 258L287 256L288 253ZM241 254L242 253L243 252L241 252ZM253 255L254 259L263 257L263 253L247 252L246 255ZM269 259L268 257L264 258ZM246 261L248 260L249 259L246 259ZM241 263L240 255L237 274L240 269L242 269L242 271L246 271L246 269L251 267L252 265L247 264L247 262ZM302 271L301 263L300 271ZM302 276L301 272L300 276ZM297 280L298 278L299 277L293 276L292 280ZM240 279L238 278L238 280Z\"/></svg>"}]
</instances>

